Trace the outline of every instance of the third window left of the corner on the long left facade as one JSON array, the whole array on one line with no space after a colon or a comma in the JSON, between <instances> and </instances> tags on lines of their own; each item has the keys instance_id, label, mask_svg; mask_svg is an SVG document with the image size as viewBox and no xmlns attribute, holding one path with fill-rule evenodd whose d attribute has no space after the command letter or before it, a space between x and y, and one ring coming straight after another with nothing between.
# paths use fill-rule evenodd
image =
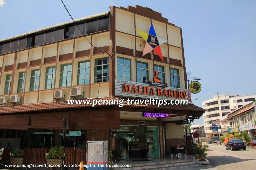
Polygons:
<instances>
[{"instance_id":1,"label":"third window left of the corner on the long left facade","mask_svg":"<svg viewBox=\"0 0 256 170\"><path fill-rule=\"evenodd\" d=\"M60 87L71 86L72 63L60 66Z\"/></svg>"}]
</instances>

